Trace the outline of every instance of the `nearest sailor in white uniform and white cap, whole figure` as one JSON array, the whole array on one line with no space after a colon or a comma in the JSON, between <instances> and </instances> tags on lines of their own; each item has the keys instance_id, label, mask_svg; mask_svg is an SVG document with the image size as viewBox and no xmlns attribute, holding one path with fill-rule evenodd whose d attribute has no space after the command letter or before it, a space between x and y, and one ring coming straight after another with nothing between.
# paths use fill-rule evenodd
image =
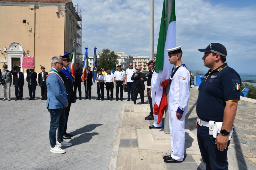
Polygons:
<instances>
[{"instance_id":1,"label":"nearest sailor in white uniform and white cap, whole figure","mask_svg":"<svg viewBox=\"0 0 256 170\"><path fill-rule=\"evenodd\" d=\"M169 84L168 113L171 134L171 155L164 156L164 162L176 163L184 159L185 149L185 114L188 110L190 92L190 73L182 64L181 46L167 49L168 60L175 66Z\"/></svg>"}]
</instances>

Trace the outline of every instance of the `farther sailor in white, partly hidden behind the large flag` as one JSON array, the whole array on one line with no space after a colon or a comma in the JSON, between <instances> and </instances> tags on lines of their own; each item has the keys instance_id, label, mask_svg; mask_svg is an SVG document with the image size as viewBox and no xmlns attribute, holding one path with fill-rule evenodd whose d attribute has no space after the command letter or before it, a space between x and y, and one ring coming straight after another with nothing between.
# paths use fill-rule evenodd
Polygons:
<instances>
[{"instance_id":1,"label":"farther sailor in white, partly hidden behind the large flag","mask_svg":"<svg viewBox=\"0 0 256 170\"><path fill-rule=\"evenodd\" d=\"M156 56L157 56L157 54L154 53L153 63L156 62ZM151 89L150 89L149 93L151 93L152 106L153 106L153 110L154 110L156 92L157 92L157 89L159 90L161 83L160 83L160 79L158 77L158 73L155 71L155 68L152 70L152 72L153 72L153 74L152 74L152 78L151 78ZM149 129L160 129L162 127L162 121L159 124L157 124L158 115L153 114L153 116L154 116L154 123L152 126L149 126Z\"/></svg>"}]
</instances>

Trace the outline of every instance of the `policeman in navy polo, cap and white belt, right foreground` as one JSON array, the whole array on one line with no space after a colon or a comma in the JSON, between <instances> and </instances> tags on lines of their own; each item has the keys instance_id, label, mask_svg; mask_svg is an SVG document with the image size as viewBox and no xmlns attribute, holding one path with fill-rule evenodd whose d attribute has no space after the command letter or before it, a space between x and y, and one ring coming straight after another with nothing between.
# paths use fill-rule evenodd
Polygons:
<instances>
[{"instance_id":1,"label":"policeman in navy polo, cap and white belt, right foreground","mask_svg":"<svg viewBox=\"0 0 256 170\"><path fill-rule=\"evenodd\" d=\"M205 67L210 68L199 86L196 103L197 141L206 169L228 169L227 150L233 132L241 78L226 61L227 50L211 43L204 52Z\"/></svg>"}]
</instances>

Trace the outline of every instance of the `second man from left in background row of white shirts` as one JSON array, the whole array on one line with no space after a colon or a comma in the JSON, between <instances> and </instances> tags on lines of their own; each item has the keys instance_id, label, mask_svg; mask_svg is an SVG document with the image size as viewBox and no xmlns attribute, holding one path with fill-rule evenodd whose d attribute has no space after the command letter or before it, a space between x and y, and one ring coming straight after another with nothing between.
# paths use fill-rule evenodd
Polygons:
<instances>
[{"instance_id":1,"label":"second man from left in background row of white shirts","mask_svg":"<svg viewBox=\"0 0 256 170\"><path fill-rule=\"evenodd\" d=\"M106 90L107 90L107 100L113 100L113 89L114 89L114 74L111 73L111 69L107 69L107 73L104 75L104 80L106 81ZM109 98L110 90L110 98Z\"/></svg>"}]
</instances>

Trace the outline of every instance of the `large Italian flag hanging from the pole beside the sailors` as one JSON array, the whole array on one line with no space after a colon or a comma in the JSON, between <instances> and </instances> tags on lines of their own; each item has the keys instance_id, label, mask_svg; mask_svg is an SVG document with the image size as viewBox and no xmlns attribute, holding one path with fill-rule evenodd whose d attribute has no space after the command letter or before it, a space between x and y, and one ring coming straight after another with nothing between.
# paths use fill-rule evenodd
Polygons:
<instances>
[{"instance_id":1,"label":"large Italian flag hanging from the pole beside the sailors","mask_svg":"<svg viewBox=\"0 0 256 170\"><path fill-rule=\"evenodd\" d=\"M166 21L166 17L168 16L167 4L168 1L163 1L163 11L162 11L162 19L160 24L160 31L158 37L157 44L157 57L156 57L156 66L155 70L160 79L161 85L159 85L159 90L156 92L155 103L154 103L154 114L158 115L157 124L162 121L163 115L165 113L165 108L168 105L167 97L166 97L166 86L168 84L168 80L171 76L172 69L174 65L172 65L168 60L168 52L166 49L171 49L176 47L176 15L175 15L175 0L173 1L172 11L170 21Z\"/></svg>"}]
</instances>

